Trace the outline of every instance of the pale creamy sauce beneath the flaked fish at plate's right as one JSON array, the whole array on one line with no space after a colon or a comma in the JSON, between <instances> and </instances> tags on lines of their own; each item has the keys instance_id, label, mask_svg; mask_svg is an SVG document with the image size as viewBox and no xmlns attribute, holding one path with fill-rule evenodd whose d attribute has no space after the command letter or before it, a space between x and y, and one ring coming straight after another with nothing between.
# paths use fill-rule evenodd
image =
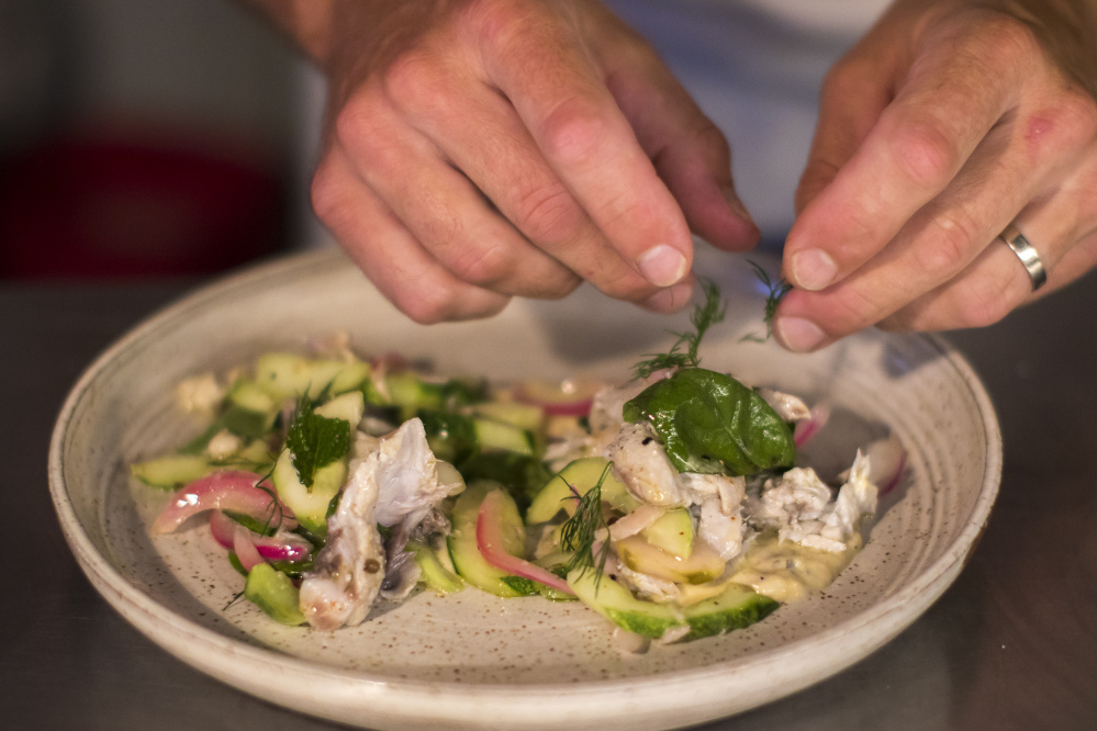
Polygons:
<instances>
[{"instance_id":1,"label":"pale creamy sauce beneath the flaked fish at plate's right","mask_svg":"<svg viewBox=\"0 0 1097 731\"><path fill-rule=\"evenodd\" d=\"M731 581L787 604L826 588L861 550L861 533L850 537L844 551L831 553L776 535L760 536L747 550Z\"/></svg>"}]
</instances>

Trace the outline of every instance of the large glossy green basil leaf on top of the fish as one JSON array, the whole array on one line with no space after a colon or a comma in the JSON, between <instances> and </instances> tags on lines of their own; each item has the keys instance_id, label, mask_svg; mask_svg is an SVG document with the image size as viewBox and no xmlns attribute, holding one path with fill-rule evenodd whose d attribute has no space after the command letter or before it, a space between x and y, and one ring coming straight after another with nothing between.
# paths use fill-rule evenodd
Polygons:
<instances>
[{"instance_id":1,"label":"large glossy green basil leaf on top of the fish","mask_svg":"<svg viewBox=\"0 0 1097 731\"><path fill-rule=\"evenodd\" d=\"M625 404L646 420L679 472L749 475L792 466L792 429L753 390L730 375L687 368Z\"/></svg>"}]
</instances>

